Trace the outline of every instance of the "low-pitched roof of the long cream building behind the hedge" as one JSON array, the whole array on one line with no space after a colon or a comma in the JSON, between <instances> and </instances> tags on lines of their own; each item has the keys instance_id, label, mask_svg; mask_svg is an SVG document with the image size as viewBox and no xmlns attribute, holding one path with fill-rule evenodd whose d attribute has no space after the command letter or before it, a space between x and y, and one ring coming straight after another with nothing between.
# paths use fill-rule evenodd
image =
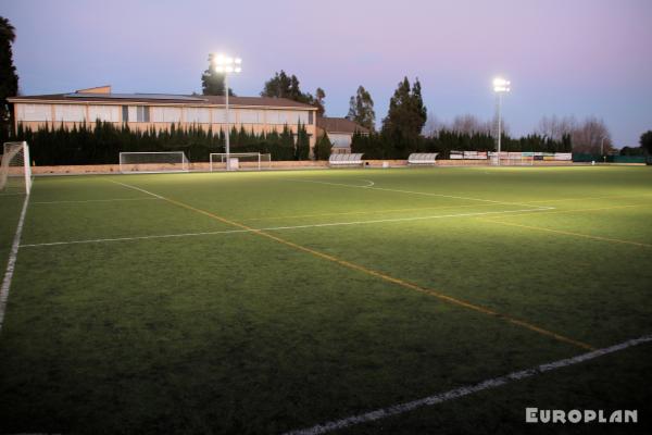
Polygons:
<instances>
[{"instance_id":1,"label":"low-pitched roof of the long cream building behind the hedge","mask_svg":"<svg viewBox=\"0 0 652 435\"><path fill-rule=\"evenodd\" d=\"M51 94L38 96L17 96L8 98L10 102L113 102L113 103L164 103L186 105L224 105L225 97L203 95L172 95L172 94L110 94L91 92L89 89L70 94ZM229 105L240 107L272 107L316 110L315 107L287 98L269 97L229 97Z\"/></svg>"}]
</instances>

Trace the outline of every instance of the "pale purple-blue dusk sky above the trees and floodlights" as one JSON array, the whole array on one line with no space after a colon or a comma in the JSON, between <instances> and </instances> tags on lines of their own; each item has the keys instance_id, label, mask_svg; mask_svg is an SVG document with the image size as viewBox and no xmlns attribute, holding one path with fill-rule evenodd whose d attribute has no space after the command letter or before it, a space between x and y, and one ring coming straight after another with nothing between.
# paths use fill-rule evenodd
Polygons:
<instances>
[{"instance_id":1,"label":"pale purple-blue dusk sky above the trees and floodlights","mask_svg":"<svg viewBox=\"0 0 652 435\"><path fill-rule=\"evenodd\" d=\"M329 116L363 85L380 125L408 76L428 115L489 120L501 75L513 135L552 115L603 119L616 147L652 129L650 0L2 0L0 16L23 95L201 92L209 53L225 52L242 58L237 95L285 70L326 91Z\"/></svg>"}]
</instances>

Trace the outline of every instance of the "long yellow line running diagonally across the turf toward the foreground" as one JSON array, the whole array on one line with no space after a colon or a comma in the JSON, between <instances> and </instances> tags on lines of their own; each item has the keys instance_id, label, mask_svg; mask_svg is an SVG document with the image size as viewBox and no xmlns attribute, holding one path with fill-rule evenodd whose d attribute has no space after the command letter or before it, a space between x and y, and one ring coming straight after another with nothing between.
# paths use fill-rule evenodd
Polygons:
<instances>
[{"instance_id":1,"label":"long yellow line running diagonally across the turf toward the foreground","mask_svg":"<svg viewBox=\"0 0 652 435\"><path fill-rule=\"evenodd\" d=\"M241 224L239 222L235 222L235 221L228 220L226 217L222 217L222 216L220 216L217 214L214 214L214 213L211 213L209 211L195 208L195 207L189 206L189 204L187 204L185 202L180 202L180 201L177 201L177 200L174 200L174 199L170 199L170 198L165 198L165 197L161 197L161 196L158 196L158 197L161 198L161 199L163 199L163 200L165 200L165 201L167 201L167 202L176 204L178 207L181 207L181 208L185 208L185 209L188 209L188 210L192 210L192 211L195 211L197 213L200 213L200 214L203 214L205 216L212 217L212 219L214 219L216 221L220 221L222 223L226 223L226 224L229 224L229 225L233 225L233 226L237 226L237 227L242 228L242 229L250 231L250 232L252 232L254 234L258 234L260 236L263 236L263 237L266 237L268 239L275 240L275 241L279 243L279 244L286 245L286 246L291 247L293 249L297 249L299 251L308 252L308 253L310 253L312 256L315 256L317 258L322 258L324 260L331 261L331 262L340 264L340 265L342 265L344 268L348 268L348 269L351 269L351 270L354 270L354 271L363 272L363 273L365 273L367 275L375 276L377 278L380 278L380 279L389 282L389 283L398 284L398 285L400 285L400 286L402 286L404 288L409 288L409 289L416 290L416 291L419 291L419 293L423 293L423 294L426 294L426 295L429 295L429 296L434 296L434 297L436 297L436 298L438 298L440 300L447 301L449 303L452 303L452 304L455 304L455 306L459 306L459 307L464 307L464 308L467 308L467 309L473 310L473 311L477 311L477 312L480 312L480 313L484 313L484 314L487 314L487 315L491 315L491 316L496 316L498 319L502 319L502 320L504 320L504 321L506 321L506 322L509 322L511 324L524 327L524 328L529 330L529 331L537 332L537 333L539 333L541 335L546 335L548 337L555 338L559 341L570 344L570 345L580 347L582 349L588 349L588 350L593 350L594 349L591 345L588 345L586 343L582 343L582 341L579 341L579 340L575 340L573 338L568 338L568 337L563 336L561 334L556 334L554 332L544 330L542 327L539 327L539 326L534 325L531 323L525 322L523 320L518 320L518 319L512 318L512 316L506 315L506 314L501 314L501 313L492 311L492 310L490 310L488 308L485 308L485 307L481 307L481 306L477 306L477 304L474 304L474 303L471 303L471 302L466 302L464 300L453 298L451 296L441 294L439 291L435 291L435 290L431 290L429 288L424 288L424 287L421 287L421 286L418 286L416 284L412 284L412 283L409 283L406 281L396 278L396 277L387 275L387 274L385 274L383 272L374 271L372 269L364 268L364 266L362 266L360 264L351 263L349 261L341 260L341 259L339 259L337 257L334 257L334 256L330 256L330 254L327 254L327 253L324 253L324 252L319 252L317 250L314 250L314 249L311 249L311 248L306 248L306 247L301 246L301 245L297 245L297 244L294 244L292 241L289 241L289 240L286 240L284 238L277 237L277 236L275 236L273 234L264 233L261 229L251 228L251 227L249 227L249 226L247 226L244 224Z\"/></svg>"}]
</instances>

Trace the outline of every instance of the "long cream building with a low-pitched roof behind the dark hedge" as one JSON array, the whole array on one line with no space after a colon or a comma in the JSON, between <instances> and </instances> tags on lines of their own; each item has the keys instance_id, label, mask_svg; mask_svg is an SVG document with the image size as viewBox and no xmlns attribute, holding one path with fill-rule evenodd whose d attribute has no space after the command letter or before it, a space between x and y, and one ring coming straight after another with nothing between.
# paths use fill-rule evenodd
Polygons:
<instances>
[{"instance_id":1,"label":"long cream building with a low-pitched roof behind the dark hedge","mask_svg":"<svg viewBox=\"0 0 652 435\"><path fill-rule=\"evenodd\" d=\"M97 120L126 124L131 129L156 130L199 125L206 130L226 130L225 97L165 94L113 94L111 86L80 89L71 94L18 96L14 104L16 127L37 129L46 124L72 128ZM248 132L281 132L287 125L294 134L305 126L310 146L316 138L316 108L285 98L229 97L229 127Z\"/></svg>"}]
</instances>

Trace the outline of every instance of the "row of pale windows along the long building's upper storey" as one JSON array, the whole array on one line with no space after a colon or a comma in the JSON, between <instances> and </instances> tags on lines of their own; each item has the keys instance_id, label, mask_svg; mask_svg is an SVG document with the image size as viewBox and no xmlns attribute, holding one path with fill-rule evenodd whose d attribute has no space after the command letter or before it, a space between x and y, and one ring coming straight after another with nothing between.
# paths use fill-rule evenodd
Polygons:
<instances>
[{"instance_id":1,"label":"row of pale windows along the long building's upper storey","mask_svg":"<svg viewBox=\"0 0 652 435\"><path fill-rule=\"evenodd\" d=\"M78 104L23 104L16 107L18 121L106 121L224 124L226 110L210 108L162 108L149 105L86 105ZM183 111L186 112L185 119ZM237 109L228 113L231 124L313 124L312 111Z\"/></svg>"}]
</instances>

